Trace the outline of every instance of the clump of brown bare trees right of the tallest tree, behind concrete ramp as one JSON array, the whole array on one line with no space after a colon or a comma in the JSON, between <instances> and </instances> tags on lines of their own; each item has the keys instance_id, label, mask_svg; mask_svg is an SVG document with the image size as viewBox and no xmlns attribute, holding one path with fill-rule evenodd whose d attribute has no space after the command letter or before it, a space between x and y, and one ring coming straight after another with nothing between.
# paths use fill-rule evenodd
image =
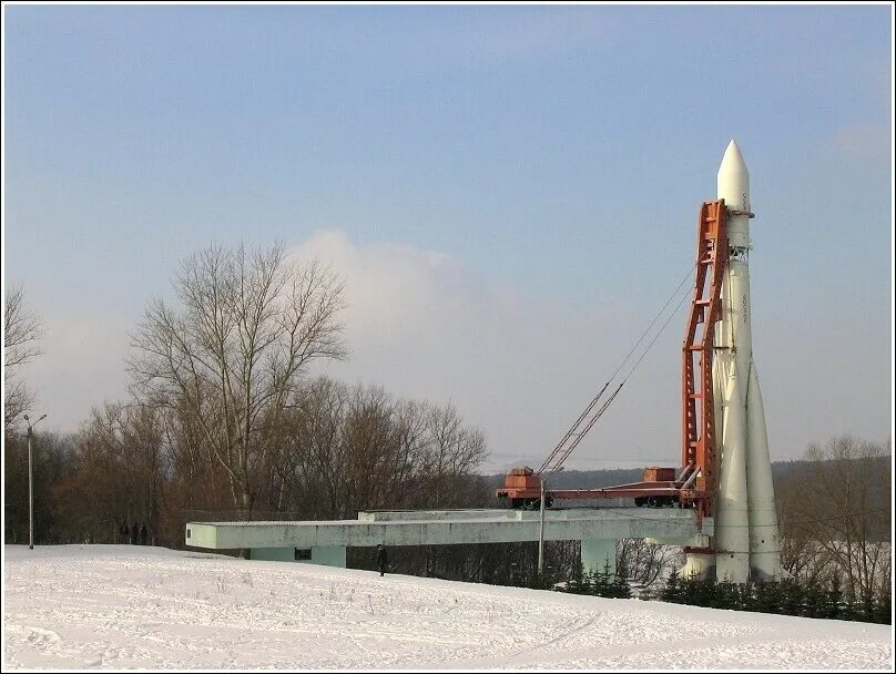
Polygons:
<instances>
[{"instance_id":1,"label":"clump of brown bare trees right of the tallest tree, behind concrete ramp","mask_svg":"<svg viewBox=\"0 0 896 674\"><path fill-rule=\"evenodd\" d=\"M306 384L286 415L268 502L303 517L483 500L485 436L455 408L396 399L376 386Z\"/></svg>"}]
</instances>

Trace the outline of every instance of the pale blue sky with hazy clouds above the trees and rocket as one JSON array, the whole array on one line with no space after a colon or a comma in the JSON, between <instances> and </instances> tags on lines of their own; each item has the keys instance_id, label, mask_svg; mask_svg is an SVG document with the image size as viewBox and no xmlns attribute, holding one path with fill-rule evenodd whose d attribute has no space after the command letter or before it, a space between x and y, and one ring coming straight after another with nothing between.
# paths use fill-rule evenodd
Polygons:
<instances>
[{"instance_id":1,"label":"pale blue sky with hazy clouds above the trees and rocket","mask_svg":"<svg viewBox=\"0 0 896 674\"><path fill-rule=\"evenodd\" d=\"M323 372L450 402L539 464L751 172L772 458L893 428L889 6L3 7L3 283L48 428L128 395L146 303L212 243L346 282ZM570 460L675 464L685 315Z\"/></svg>"}]
</instances>

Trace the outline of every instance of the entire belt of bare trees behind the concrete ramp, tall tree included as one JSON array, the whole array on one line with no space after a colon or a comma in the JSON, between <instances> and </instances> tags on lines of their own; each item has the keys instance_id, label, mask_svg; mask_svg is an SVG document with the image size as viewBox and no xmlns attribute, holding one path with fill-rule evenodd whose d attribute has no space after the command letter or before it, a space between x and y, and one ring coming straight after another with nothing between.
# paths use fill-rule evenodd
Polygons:
<instances>
[{"instance_id":1,"label":"entire belt of bare trees behind the concrete ramp, tall tree included","mask_svg":"<svg viewBox=\"0 0 896 674\"><path fill-rule=\"evenodd\" d=\"M196 519L482 504L485 435L454 407L309 377L313 364L348 353L343 285L326 266L281 245L213 245L181 264L172 290L133 331L130 399L95 408L71 436L35 431L38 542L113 542L126 521L177 548ZM40 321L22 306L21 294L8 295L8 361L39 355ZM18 412L30 397L9 384L7 402L18 407L4 419L4 533L21 542L28 460Z\"/></svg>"}]
</instances>

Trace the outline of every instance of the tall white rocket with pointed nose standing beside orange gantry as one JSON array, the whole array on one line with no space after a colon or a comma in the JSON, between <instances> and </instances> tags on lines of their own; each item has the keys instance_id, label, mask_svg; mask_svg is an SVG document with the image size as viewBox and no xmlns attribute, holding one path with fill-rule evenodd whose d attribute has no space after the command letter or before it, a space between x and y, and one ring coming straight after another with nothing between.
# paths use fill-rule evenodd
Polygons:
<instances>
[{"instance_id":1,"label":"tall white rocket with pointed nose standing beside orange gantry","mask_svg":"<svg viewBox=\"0 0 896 674\"><path fill-rule=\"evenodd\" d=\"M735 583L778 580L772 463L750 327L750 173L734 141L719 167L716 197L727 208L729 262L713 359L716 438L721 439L715 576Z\"/></svg>"}]
</instances>

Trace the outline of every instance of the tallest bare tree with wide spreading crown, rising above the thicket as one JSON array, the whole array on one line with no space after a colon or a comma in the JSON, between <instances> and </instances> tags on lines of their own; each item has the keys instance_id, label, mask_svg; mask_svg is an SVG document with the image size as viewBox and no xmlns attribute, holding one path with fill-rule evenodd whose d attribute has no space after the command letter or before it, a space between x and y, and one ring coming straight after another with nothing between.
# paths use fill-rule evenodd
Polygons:
<instances>
[{"instance_id":1,"label":"tallest bare tree with wide spreading crown, rising above the thicket","mask_svg":"<svg viewBox=\"0 0 896 674\"><path fill-rule=\"evenodd\" d=\"M346 355L343 286L316 262L291 263L282 245L212 246L173 286L179 306L153 300L133 336L136 392L196 426L248 518L299 375Z\"/></svg>"}]
</instances>

